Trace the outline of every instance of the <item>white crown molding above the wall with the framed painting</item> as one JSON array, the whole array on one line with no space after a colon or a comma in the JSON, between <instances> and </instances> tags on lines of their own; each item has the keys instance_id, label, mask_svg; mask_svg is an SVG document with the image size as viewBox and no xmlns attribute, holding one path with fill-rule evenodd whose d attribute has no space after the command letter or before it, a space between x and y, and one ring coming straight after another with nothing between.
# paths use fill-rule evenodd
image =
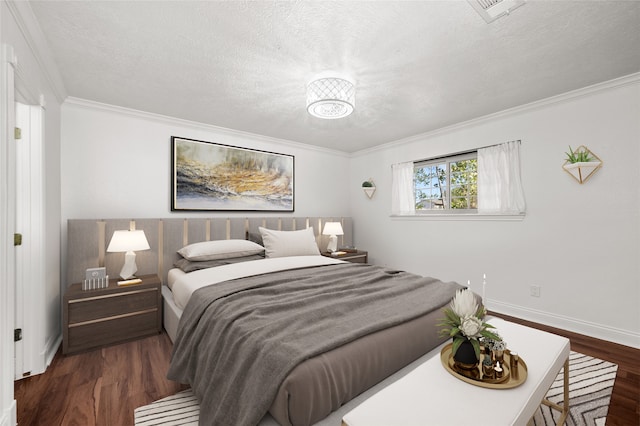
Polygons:
<instances>
[{"instance_id":1,"label":"white crown molding above the wall with the framed painting","mask_svg":"<svg viewBox=\"0 0 640 426\"><path fill-rule=\"evenodd\" d=\"M102 102L90 101L87 99L75 98L72 96L67 97L66 100L64 101L64 104L79 106L82 108L99 110L99 111L107 111L115 114L120 114L123 116L134 117L142 120L155 121L158 123L163 123L163 124L168 124L173 126L184 126L184 127L190 127L193 129L206 130L209 132L221 133L221 134L225 134L232 137L253 139L253 140L258 140L265 143L276 143L278 145L286 145L291 148L303 149L305 151L322 152L322 153L337 155L345 158L350 157L349 153L346 153L343 151L322 148L319 146L291 141L288 139L278 139L270 136L260 135L257 133L250 133L250 132L244 132L241 130L229 129L226 127L214 126L213 124L206 124L198 121L191 121L191 120L185 120L182 118L170 117L168 115L140 111L133 108L126 108L126 107L121 107L117 105L105 104Z\"/></svg>"}]
</instances>

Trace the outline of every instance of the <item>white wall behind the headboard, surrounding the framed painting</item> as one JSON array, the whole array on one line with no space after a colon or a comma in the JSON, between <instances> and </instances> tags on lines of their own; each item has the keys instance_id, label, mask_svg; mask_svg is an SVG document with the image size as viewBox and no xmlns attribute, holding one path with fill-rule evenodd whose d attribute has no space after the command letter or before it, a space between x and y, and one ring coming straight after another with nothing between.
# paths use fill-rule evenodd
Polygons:
<instances>
[{"instance_id":1,"label":"white wall behind the headboard, surrounding the framed painting","mask_svg":"<svg viewBox=\"0 0 640 426\"><path fill-rule=\"evenodd\" d=\"M295 212L346 216L349 157L337 151L70 99L62 109L62 219L251 216L171 212L171 136L295 156Z\"/></svg>"}]
</instances>

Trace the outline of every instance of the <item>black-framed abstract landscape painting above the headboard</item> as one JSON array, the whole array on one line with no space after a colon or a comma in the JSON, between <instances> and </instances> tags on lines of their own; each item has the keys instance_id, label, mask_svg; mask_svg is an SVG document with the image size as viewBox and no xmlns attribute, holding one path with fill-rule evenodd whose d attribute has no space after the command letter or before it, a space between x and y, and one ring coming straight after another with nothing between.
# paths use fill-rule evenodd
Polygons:
<instances>
[{"instance_id":1,"label":"black-framed abstract landscape painting above the headboard","mask_svg":"<svg viewBox=\"0 0 640 426\"><path fill-rule=\"evenodd\" d=\"M293 155L171 137L171 210L294 211Z\"/></svg>"}]
</instances>

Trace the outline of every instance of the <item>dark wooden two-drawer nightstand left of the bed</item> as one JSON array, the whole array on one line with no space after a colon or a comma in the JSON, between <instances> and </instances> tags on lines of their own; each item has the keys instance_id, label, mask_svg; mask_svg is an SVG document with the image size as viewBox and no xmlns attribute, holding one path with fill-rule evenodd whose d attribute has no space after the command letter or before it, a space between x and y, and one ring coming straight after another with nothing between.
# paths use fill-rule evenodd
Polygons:
<instances>
[{"instance_id":1,"label":"dark wooden two-drawer nightstand left of the bed","mask_svg":"<svg viewBox=\"0 0 640 426\"><path fill-rule=\"evenodd\" d=\"M162 295L157 275L140 284L82 290L72 284L64 295L62 352L70 354L162 332Z\"/></svg>"}]
</instances>

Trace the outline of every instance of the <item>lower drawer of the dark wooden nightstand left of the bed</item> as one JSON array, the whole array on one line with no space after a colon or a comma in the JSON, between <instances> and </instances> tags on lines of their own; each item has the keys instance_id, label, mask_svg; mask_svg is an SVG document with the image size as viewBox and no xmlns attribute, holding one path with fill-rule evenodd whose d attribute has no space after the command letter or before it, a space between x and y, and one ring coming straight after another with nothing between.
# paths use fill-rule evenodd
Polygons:
<instances>
[{"instance_id":1,"label":"lower drawer of the dark wooden nightstand left of the bed","mask_svg":"<svg viewBox=\"0 0 640 426\"><path fill-rule=\"evenodd\" d=\"M111 319L70 324L68 352L91 349L112 343L148 336L158 332L158 312L151 309Z\"/></svg>"}]
</instances>

